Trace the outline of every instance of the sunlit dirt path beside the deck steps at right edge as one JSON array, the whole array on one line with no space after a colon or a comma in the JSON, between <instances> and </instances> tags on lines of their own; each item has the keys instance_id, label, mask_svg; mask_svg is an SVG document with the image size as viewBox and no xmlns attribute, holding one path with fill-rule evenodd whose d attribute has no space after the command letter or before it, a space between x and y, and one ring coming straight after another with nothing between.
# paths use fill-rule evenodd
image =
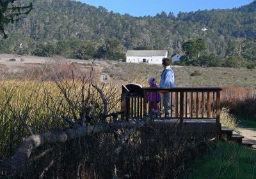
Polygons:
<instances>
[{"instance_id":1,"label":"sunlit dirt path beside the deck steps at right edge","mask_svg":"<svg viewBox=\"0 0 256 179\"><path fill-rule=\"evenodd\" d=\"M238 125L240 134L244 136L243 141L250 141L253 143L253 148L256 148L256 129L244 125Z\"/></svg>"}]
</instances>

